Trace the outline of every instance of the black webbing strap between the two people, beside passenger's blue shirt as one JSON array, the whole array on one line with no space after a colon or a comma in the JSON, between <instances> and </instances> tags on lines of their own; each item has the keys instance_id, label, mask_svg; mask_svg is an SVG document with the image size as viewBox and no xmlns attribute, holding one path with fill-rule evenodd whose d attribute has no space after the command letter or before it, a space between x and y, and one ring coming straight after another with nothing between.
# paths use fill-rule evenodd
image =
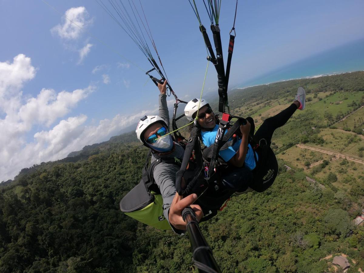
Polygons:
<instances>
[{"instance_id":1,"label":"black webbing strap between the two people, beside passenger's blue shirt","mask_svg":"<svg viewBox=\"0 0 364 273\"><path fill-rule=\"evenodd\" d=\"M191 181L189 181L186 187L182 187L182 178L190 161L192 151L195 151L196 170L199 171L202 169L201 146L198 138L199 134L200 129L197 127L193 127L191 130L190 138L186 145L185 154L183 155L181 169L176 173L176 190L179 195L188 194L189 191L194 188L198 179L198 177L195 176Z\"/></svg>"}]
</instances>

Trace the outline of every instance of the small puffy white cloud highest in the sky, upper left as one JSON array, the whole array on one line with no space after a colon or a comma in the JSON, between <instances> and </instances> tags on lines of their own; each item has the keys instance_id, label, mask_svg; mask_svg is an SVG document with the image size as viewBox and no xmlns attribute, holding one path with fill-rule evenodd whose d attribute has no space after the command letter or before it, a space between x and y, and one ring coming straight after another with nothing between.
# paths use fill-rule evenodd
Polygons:
<instances>
[{"instance_id":1,"label":"small puffy white cloud highest in the sky, upper left","mask_svg":"<svg viewBox=\"0 0 364 273\"><path fill-rule=\"evenodd\" d=\"M85 7L70 8L62 17L63 23L53 27L51 32L63 39L77 39L83 29L91 23L92 20L87 20L88 17Z\"/></svg>"}]
</instances>

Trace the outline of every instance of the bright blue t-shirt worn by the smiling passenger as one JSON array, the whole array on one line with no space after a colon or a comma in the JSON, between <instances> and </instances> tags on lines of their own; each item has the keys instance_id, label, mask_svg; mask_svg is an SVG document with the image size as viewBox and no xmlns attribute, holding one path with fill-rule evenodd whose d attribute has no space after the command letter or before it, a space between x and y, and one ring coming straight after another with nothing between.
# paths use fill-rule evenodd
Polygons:
<instances>
[{"instance_id":1,"label":"bright blue t-shirt worn by the smiling passenger","mask_svg":"<svg viewBox=\"0 0 364 273\"><path fill-rule=\"evenodd\" d=\"M212 131L205 131L205 132L201 131L202 141L206 147L209 147L214 144L218 128L219 128L219 126L218 126L218 124L216 124L215 128ZM231 140L231 138L229 139L229 141L230 140ZM240 143L241 143L241 139L238 139L233 146L230 146L225 150L219 151L219 155L222 157L222 159L225 162L232 159L232 157L236 154L236 152L239 150ZM256 156L258 159L257 153L256 153ZM250 146L250 144L248 144L248 153L246 154L246 157L245 157L245 166L248 167L248 169L250 169L250 170L253 170L256 167L253 149L252 149L252 146Z\"/></svg>"}]
</instances>

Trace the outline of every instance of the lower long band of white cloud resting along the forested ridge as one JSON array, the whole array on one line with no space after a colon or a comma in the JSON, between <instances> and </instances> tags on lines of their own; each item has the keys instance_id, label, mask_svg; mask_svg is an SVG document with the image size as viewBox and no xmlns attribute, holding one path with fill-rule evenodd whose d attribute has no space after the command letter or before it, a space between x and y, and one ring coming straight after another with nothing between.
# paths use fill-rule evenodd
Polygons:
<instances>
[{"instance_id":1,"label":"lower long band of white cloud resting along the forested ridge","mask_svg":"<svg viewBox=\"0 0 364 273\"><path fill-rule=\"evenodd\" d=\"M13 142L13 149L0 150L0 181L12 179L25 167L62 159L86 145L105 141L128 126L136 126L142 116L157 111L155 108L132 115L116 115L111 120L100 120L97 126L86 126L87 116L79 115L61 120L49 131L37 132L33 142L25 143L23 138L8 139L8 143Z\"/></svg>"}]
</instances>

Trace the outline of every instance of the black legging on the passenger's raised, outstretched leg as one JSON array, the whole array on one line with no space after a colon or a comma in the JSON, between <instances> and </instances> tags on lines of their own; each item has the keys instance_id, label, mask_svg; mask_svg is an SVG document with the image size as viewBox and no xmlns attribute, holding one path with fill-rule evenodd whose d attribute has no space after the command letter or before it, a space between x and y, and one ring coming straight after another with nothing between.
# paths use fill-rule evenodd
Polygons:
<instances>
[{"instance_id":1,"label":"black legging on the passenger's raised, outstretched leg","mask_svg":"<svg viewBox=\"0 0 364 273\"><path fill-rule=\"evenodd\" d=\"M254 139L256 141L265 139L267 141L267 144L270 145L274 131L278 127L281 127L284 124L286 124L286 122L289 120L289 118L293 115L293 113L296 110L297 110L296 104L292 103L288 108L284 109L282 112L264 120L263 124L254 134ZM247 120L249 121L249 118L247 118Z\"/></svg>"}]
</instances>

